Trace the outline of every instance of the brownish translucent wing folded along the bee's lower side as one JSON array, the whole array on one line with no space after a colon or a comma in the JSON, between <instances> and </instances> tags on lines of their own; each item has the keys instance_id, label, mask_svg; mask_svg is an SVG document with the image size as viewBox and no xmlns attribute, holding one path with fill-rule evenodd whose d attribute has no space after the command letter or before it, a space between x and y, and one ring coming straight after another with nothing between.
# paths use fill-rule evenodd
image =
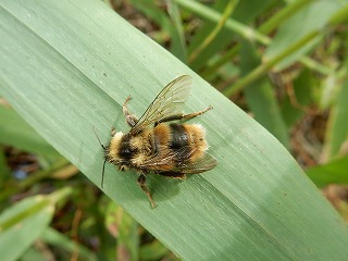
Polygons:
<instances>
[{"instance_id":1,"label":"brownish translucent wing folded along the bee's lower side","mask_svg":"<svg viewBox=\"0 0 348 261\"><path fill-rule=\"evenodd\" d=\"M191 150L189 147L183 147L175 152L170 151L166 154L148 159L140 169L163 175L165 173L197 174L212 170L216 165L216 160L208 153L203 153L198 160L190 161L194 153L195 150ZM177 159L179 159L179 163L177 163Z\"/></svg>"}]
</instances>

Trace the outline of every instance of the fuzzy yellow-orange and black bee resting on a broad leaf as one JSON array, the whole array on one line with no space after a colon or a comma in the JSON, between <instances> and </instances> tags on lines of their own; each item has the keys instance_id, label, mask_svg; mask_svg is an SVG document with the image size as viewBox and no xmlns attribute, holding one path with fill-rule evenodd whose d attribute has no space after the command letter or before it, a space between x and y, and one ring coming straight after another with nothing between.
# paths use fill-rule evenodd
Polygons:
<instances>
[{"instance_id":1,"label":"fuzzy yellow-orange and black bee resting on a broad leaf","mask_svg":"<svg viewBox=\"0 0 348 261\"><path fill-rule=\"evenodd\" d=\"M126 99L123 114L130 130L125 134L113 129L109 146L102 146L104 163L101 186L105 162L119 166L120 171L135 170L139 173L138 185L154 208L156 202L146 185L147 174L185 178L185 174L206 172L216 165L216 160L206 152L208 144L204 128L199 124L183 124L212 109L210 105L196 113L182 113L191 85L189 75L174 79L156 97L139 120L127 109L130 96Z\"/></svg>"}]
</instances>

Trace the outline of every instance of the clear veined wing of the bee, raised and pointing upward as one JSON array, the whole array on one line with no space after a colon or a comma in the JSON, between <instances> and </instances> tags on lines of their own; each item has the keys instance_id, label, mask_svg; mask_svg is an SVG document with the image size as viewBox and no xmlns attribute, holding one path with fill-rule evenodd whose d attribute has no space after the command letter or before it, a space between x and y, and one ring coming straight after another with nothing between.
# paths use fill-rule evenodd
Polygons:
<instances>
[{"instance_id":1,"label":"clear veined wing of the bee, raised and pointing upward","mask_svg":"<svg viewBox=\"0 0 348 261\"><path fill-rule=\"evenodd\" d=\"M138 133L164 117L181 115L182 105L186 101L191 86L192 78L189 75L179 76L166 85L132 127L130 134Z\"/></svg>"}]
</instances>

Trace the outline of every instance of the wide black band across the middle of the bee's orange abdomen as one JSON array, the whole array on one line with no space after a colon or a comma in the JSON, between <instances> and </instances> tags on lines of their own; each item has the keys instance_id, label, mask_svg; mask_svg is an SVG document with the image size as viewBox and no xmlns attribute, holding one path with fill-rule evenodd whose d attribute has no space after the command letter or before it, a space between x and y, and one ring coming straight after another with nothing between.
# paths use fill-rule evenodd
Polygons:
<instances>
[{"instance_id":1,"label":"wide black band across the middle of the bee's orange abdomen","mask_svg":"<svg viewBox=\"0 0 348 261\"><path fill-rule=\"evenodd\" d=\"M183 125L172 123L170 124L171 127L171 142L170 149L176 151L177 154L175 156L175 160L181 162L185 159L189 158L190 149L188 147L188 136Z\"/></svg>"}]
</instances>

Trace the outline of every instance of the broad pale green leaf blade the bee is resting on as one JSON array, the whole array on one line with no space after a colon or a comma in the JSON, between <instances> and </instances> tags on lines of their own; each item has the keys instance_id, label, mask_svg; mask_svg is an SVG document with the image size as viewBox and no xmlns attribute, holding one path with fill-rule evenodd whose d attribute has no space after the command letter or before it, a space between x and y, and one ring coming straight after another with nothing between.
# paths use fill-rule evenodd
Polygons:
<instances>
[{"instance_id":1,"label":"broad pale green leaf blade the bee is resting on","mask_svg":"<svg viewBox=\"0 0 348 261\"><path fill-rule=\"evenodd\" d=\"M140 115L162 87L190 74L186 112L219 162L184 182L149 175L151 209L134 172L105 170L104 192L185 260L344 260L345 223L287 150L254 120L104 3L0 1L0 94L61 154L100 185L122 104ZM141 48L139 48L141 47ZM24 88L25 86L25 88Z\"/></svg>"}]
</instances>

